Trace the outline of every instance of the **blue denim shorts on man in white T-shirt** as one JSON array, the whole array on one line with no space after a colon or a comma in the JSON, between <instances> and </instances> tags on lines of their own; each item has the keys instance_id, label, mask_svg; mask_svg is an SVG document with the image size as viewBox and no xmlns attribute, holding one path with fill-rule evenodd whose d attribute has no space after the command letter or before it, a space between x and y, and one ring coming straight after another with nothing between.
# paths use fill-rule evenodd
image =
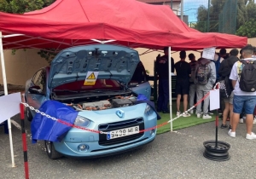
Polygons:
<instances>
[{"instance_id":1,"label":"blue denim shorts on man in white T-shirt","mask_svg":"<svg viewBox=\"0 0 256 179\"><path fill-rule=\"evenodd\" d=\"M253 114L256 106L256 95L234 95L233 112L241 113L242 108L245 114Z\"/></svg>"}]
</instances>

